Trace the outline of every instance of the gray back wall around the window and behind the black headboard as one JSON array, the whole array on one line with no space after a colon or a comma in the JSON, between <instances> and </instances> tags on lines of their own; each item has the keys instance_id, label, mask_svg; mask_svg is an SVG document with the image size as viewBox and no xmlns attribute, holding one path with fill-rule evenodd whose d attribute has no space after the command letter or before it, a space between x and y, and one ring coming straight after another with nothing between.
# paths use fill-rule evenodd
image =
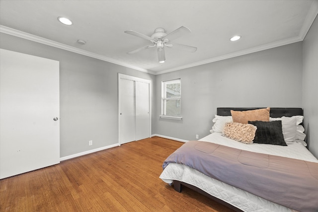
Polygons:
<instances>
[{"instance_id":1,"label":"gray back wall around the window and behind the black headboard","mask_svg":"<svg viewBox=\"0 0 318 212\"><path fill-rule=\"evenodd\" d=\"M157 75L155 132L209 134L217 107L302 107L302 42ZM181 78L181 121L160 119L160 83Z\"/></svg>"}]
</instances>

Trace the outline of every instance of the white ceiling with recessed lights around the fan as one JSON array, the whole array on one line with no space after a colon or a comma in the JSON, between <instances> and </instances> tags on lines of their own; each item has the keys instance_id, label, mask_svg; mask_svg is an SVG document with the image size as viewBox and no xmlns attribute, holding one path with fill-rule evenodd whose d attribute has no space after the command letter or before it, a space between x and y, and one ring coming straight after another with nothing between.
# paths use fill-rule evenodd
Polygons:
<instances>
[{"instance_id":1,"label":"white ceiling with recessed lights around the fan","mask_svg":"<svg viewBox=\"0 0 318 212\"><path fill-rule=\"evenodd\" d=\"M302 41L317 13L318 0L0 0L0 31L159 74ZM165 48L163 64L155 48L126 54L152 43L124 31L180 26L191 33L174 43L195 53ZM233 35L242 38L230 42Z\"/></svg>"}]
</instances>

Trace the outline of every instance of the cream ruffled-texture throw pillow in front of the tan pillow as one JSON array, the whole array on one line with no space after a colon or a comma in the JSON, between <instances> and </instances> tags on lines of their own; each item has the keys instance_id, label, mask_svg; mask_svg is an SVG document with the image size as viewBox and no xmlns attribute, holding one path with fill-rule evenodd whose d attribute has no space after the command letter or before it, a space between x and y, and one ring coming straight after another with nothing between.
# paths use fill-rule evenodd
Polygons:
<instances>
[{"instance_id":1,"label":"cream ruffled-texture throw pillow in front of the tan pillow","mask_svg":"<svg viewBox=\"0 0 318 212\"><path fill-rule=\"evenodd\" d=\"M257 127L237 122L226 123L222 135L242 143L253 143Z\"/></svg>"}]
</instances>

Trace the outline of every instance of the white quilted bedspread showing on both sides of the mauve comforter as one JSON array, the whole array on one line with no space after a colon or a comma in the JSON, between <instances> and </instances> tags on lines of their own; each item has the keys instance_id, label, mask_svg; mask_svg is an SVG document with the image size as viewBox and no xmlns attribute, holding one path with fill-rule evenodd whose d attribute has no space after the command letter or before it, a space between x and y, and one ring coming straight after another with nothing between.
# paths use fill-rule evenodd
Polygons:
<instances>
[{"instance_id":1,"label":"white quilted bedspread showing on both sides of the mauve comforter","mask_svg":"<svg viewBox=\"0 0 318 212\"><path fill-rule=\"evenodd\" d=\"M318 162L318 159L303 144L296 142L288 142L288 146L258 143L245 144L223 137L220 133L212 133L199 141L214 142L247 151ZM166 183L172 183L173 180L178 180L193 185L244 212L295 212L294 210L210 178L182 164L170 163L161 173L160 179Z\"/></svg>"}]
</instances>

